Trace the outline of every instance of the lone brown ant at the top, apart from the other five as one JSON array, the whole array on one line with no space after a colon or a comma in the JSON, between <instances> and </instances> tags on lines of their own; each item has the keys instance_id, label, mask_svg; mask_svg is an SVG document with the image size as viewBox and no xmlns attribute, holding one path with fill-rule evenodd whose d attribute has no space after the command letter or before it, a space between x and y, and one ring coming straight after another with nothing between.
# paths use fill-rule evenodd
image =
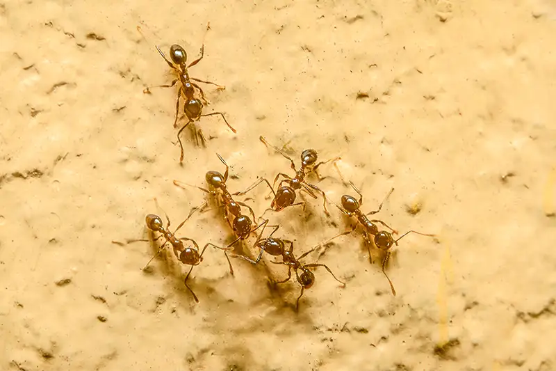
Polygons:
<instances>
[{"instance_id":1,"label":"lone brown ant at the top, apart from the other five","mask_svg":"<svg viewBox=\"0 0 556 371\"><path fill-rule=\"evenodd\" d=\"M137 29L142 35L140 26L137 26ZM207 24L206 31L208 31L209 29L211 29L210 23ZM206 31L205 31L205 35L206 35ZM183 129L185 129L190 123L195 123L195 121L198 121L200 118L204 116L220 115L222 116L222 119L224 119L224 123L228 125L229 129L231 129L232 132L236 133L236 129L234 129L234 127L231 127L231 125L229 125L228 120L226 120L226 117L224 117L224 113L222 112L211 112L205 114L202 113L203 104L201 100L203 100L205 104L208 104L208 102L204 97L204 92L202 88L199 85L195 84L193 81L202 82L204 84L213 84L215 86L218 86L218 89L222 89L222 90L225 88L225 86L220 86L211 81L204 81L189 76L188 68L193 67L194 65L199 63L199 61L201 61L204 56L204 41L201 46L201 56L195 59L195 61L189 63L189 65L186 63L187 62L186 50L183 49L183 47L181 47L180 45L174 44L170 47L170 59L172 59L172 61L169 61L166 58L166 56L164 55L162 50L158 47L158 45L155 45L155 47L156 50L158 50L158 53L161 54L162 58L164 58L164 61L166 61L166 63L170 66L170 68L172 68L172 70L177 72L178 78L172 80L171 84L151 86L151 88L172 88L172 86L176 85L178 81L181 84L176 99L176 118L174 119L174 127L177 127L177 122L178 122L179 100L182 95L185 98L185 104L183 104L183 113L185 113L186 117L188 118L188 122L186 123L186 125L183 125L181 129L179 129L179 132L177 134L180 151L181 151L179 156L179 163L181 164L183 162L183 144L181 143L181 139L179 136L181 132L183 132ZM199 90L199 93L201 93L201 100L195 98L195 88L197 88ZM145 88L145 90L143 90L143 93L150 93L150 88ZM201 129L195 130L195 140L197 141L197 145L199 145L199 138L201 139L200 141L202 142L202 144L205 145L206 139L204 138Z\"/></svg>"}]
</instances>

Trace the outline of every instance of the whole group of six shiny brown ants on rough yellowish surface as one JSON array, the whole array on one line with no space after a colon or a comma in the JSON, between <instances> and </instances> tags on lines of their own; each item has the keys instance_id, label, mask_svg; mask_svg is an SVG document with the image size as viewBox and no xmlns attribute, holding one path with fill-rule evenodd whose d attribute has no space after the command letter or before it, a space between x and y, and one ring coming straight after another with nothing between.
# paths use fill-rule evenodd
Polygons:
<instances>
[{"instance_id":1,"label":"whole group of six shiny brown ants on rough yellowish surface","mask_svg":"<svg viewBox=\"0 0 556 371\"><path fill-rule=\"evenodd\" d=\"M138 31L141 32L139 26L137 29ZM208 31L208 29L210 29L210 26L208 25L206 29ZM177 139L181 150L180 159L179 159L179 162L181 164L183 161L183 145L181 143L180 134L181 132L183 132L183 129L188 127L188 125L192 125L193 127L193 135L195 140L197 141L197 144L202 143L202 145L206 143L206 140L204 139L201 130L195 128L194 126L195 122L199 120L201 117L220 115L224 119L224 122L228 125L228 127L231 129L232 132L235 133L236 130L233 127L231 127L231 125L229 125L223 113L221 112L202 113L203 104L201 100L205 102L205 104L208 104L208 102L206 102L205 100L204 92L202 88L200 88L193 81L201 82L204 84L213 84L215 86L218 86L218 88L220 89L224 88L223 86L215 84L211 81L196 79L194 77L190 77L189 75L188 68L193 67L194 65L199 63L199 61L201 61L204 56L204 43L202 44L201 47L201 56L199 56L199 58L197 58L195 61L189 64L187 64L186 51L180 45L174 44L170 47L171 61L166 58L165 54L161 51L161 49L158 46L156 46L156 49L158 50L158 53L160 53L161 56L164 58L166 63L170 66L170 68L172 68L172 70L177 72L178 76L177 79L174 79L171 84L152 86L152 88L154 87L170 88L175 86L177 83L181 85L179 86L177 100L176 100L176 117L174 120L174 127L177 127L177 123L178 123L180 100L182 97L185 98L185 104L183 105L183 113L188 119L188 122L185 125L183 125L181 129L179 129L179 132L177 134ZM200 99L196 97L197 91L200 94ZM144 93L150 93L149 88L145 88ZM341 197L341 205L337 205L337 204L334 205L336 205L336 207L338 207L338 209L343 214L357 219L357 223L355 223L350 230L341 232L340 234L332 237L331 239L328 239L327 242L323 244L318 244L311 250L306 251L305 253L303 253L302 255L296 258L293 251L293 242L291 240L272 237L272 235L274 235L275 232L279 229L279 226L269 226L268 225L269 219L263 219L262 216L261 218L257 219L255 217L252 207L250 207L249 205L247 205L246 203L240 200L237 200L237 196L244 196L248 192L252 191L252 189L259 186L259 184L266 184L270 189L270 191L272 192L272 197L273 197L272 203L270 204L270 208L268 210L279 212L281 210L286 209L286 207L292 207L296 205L301 205L304 210L305 208L304 201L300 201L297 203L295 202L297 194L301 191L304 191L306 194L309 194L309 196L311 196L314 199L318 198L316 194L318 193L323 198L322 205L325 214L329 216L329 212L327 210L328 200L325 192L322 191L320 188L318 188L316 185L307 182L306 176L309 175L309 173L314 173L319 180L322 180L323 177L320 177L320 175L318 175L317 172L318 167L321 166L322 164L327 164L328 162L331 161L334 164L334 166L336 166L336 161L340 158L336 157L335 159L329 159L328 161L317 162L318 156L316 150L307 149L302 151L301 153L301 166L297 170L295 166L295 162L293 161L293 159L291 159L291 157L286 155L286 153L284 153L279 148L268 143L268 141L264 139L263 136L260 137L260 140L265 145L272 148L277 153L279 153L280 155L288 159L291 162L291 168L293 169L293 171L295 171L295 175L291 177L285 173L278 173L272 185L266 178L259 177L256 180L256 182L254 182L254 184L252 184L250 187L245 189L245 191L238 191L235 193L231 193L227 187L229 166L227 165L226 161L224 161L224 159L217 154L218 158L220 159L220 161L222 161L222 164L224 164L226 168L224 174L222 175L222 173L218 171L208 171L205 176L206 182L208 184L208 189L197 187L197 186L193 186L193 187L201 189L202 191L206 192L206 194L213 196L217 200L218 205L224 209L225 219L227 220L227 223L229 224L231 229L234 231L234 235L236 236L236 238L234 239L233 242L231 242L225 247L217 246L209 242L205 244L203 248L199 248L199 244L197 244L195 240L188 237L179 238L176 236L178 230L183 226L184 223L186 223L186 221L188 221L188 219L190 219L191 216L193 216L195 212L204 210L206 205L208 205L207 202L203 203L199 207L193 207L193 209L190 211L187 218L183 220L179 224L179 226L177 226L174 232L171 232L169 229L170 219L168 218L167 215L165 215L166 226L164 226L163 220L161 219L160 216L155 214L148 214L145 217L147 228L152 232L160 233L160 235L154 238L153 241L156 242L158 239L163 237L163 239L165 239L165 242L158 248L156 254L151 258L151 260L149 260L149 262L147 262L147 265L145 265L145 268L143 269L144 270L147 269L150 262L152 262L152 260L156 258L156 256L158 256L163 251L163 249L167 244L172 245L173 253L176 256L177 260L179 260L184 265L190 266L188 274L186 275L186 278L184 279L183 282L188 288L188 290L191 292L191 294L193 295L193 299L195 299L195 301L198 303L199 299L197 298L195 292L193 292L193 289L188 285L188 279L190 277L191 271L193 271L193 268L199 265L200 262L202 262L203 254L206 251L206 248L211 246L212 248L217 248L221 251L224 251L224 255L226 256L227 262L229 264L230 274L233 276L234 269L231 265L228 252L234 250L234 246L236 246L238 242L246 240L248 237L255 235L257 230L260 230L260 232L257 235L256 242L254 243L254 246L260 249L259 255L256 257L256 259L253 260L243 254L236 254L236 253L231 253L231 256L233 258L241 258L254 265L259 264L261 258L263 257L263 253L267 253L275 257L281 257L281 261L279 262L272 261L272 260L270 260L270 262L279 265L286 265L288 267L288 276L284 280L275 281L274 283L280 284L280 283L286 283L290 281L292 276L292 270L295 272L295 277L297 278L297 282L301 286L301 292L299 294L299 297L297 297L297 302L295 306L296 310L298 310L300 299L304 294L304 290L309 289L315 282L315 276L313 272L310 270L311 268L325 267L325 269L327 269L327 271L334 277L334 279L336 279L336 281L338 281L343 286L345 286L345 283L340 281L338 278L336 278L336 276L334 276L334 274L332 273L332 270L330 270L329 267L327 267L327 265L320 264L320 263L303 264L301 260L304 257L306 257L306 255L309 255L309 253L315 251L316 248L318 248L319 246L327 246L327 244L331 242L332 239L335 239L336 237L340 237L342 235L348 235L354 232L357 226L361 226L363 237L365 239L366 245L368 246L370 263L371 264L373 263L373 258L371 255L372 246L376 246L377 248L379 248L381 251L384 252L383 254L384 257L382 258L382 272L384 276L386 276L386 279L390 284L392 294L395 295L395 289L393 283L390 280L388 274L386 274L386 270L385 270L386 263L388 262L391 255L391 247L394 244L398 245L398 241L400 241L400 239L407 236L411 232L416 233L418 235L425 235L429 237L434 237L434 235L416 232L414 230L409 230L409 232L405 232L403 235L395 239L393 235L398 234L397 230L394 230L393 228L388 226L386 223L384 223L384 221L368 218L369 215L377 214L382 209L382 205L384 204L384 201L386 201L386 199L391 195L394 189L392 188L389 191L389 193L386 195L386 198L384 198L382 203L380 203L377 210L365 214L363 211L361 211L361 205L363 204L363 195L361 194L361 191L359 191L359 189L355 187L353 182L350 181L349 184L352 187L352 189L359 195L359 199L350 195L343 195ZM338 170L339 173L339 169L337 168L337 166L336 166L336 170ZM283 179L279 182L278 187L275 191L273 185L276 184L276 182L279 180L280 177L282 177ZM182 188L183 185L190 185L190 184L185 184L183 182L179 182L177 180L174 180L174 184ZM245 214L246 209L249 210L249 214ZM252 219L250 218L249 215L252 216ZM261 222L256 223L257 220L261 220ZM379 230L378 225L384 226L388 230ZM263 232L265 228L272 228L272 232L270 232L268 237L263 238ZM126 242L131 243L131 242L149 242L149 241L150 241L149 239L128 239ZM191 244L193 244L193 246L186 246L184 242L190 242ZM121 244L120 242L114 242L114 243Z\"/></svg>"}]
</instances>

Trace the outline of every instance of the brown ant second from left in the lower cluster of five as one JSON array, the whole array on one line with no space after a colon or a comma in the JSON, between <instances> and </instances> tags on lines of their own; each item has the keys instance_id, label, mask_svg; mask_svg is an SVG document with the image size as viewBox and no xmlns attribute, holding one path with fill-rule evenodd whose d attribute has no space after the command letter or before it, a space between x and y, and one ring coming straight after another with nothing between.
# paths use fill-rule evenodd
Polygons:
<instances>
[{"instance_id":1,"label":"brown ant second from left in the lower cluster of five","mask_svg":"<svg viewBox=\"0 0 556 371\"><path fill-rule=\"evenodd\" d=\"M222 175L222 173L218 171L208 171L205 175L205 180L208 183L210 190L204 189L202 187L197 187L197 186L193 186L193 187L196 187L206 192L207 194L220 196L219 200L224 206L224 211L226 214L226 219L228 221L228 224L232 228L232 230L234 230L234 233L236 234L237 237L234 240L234 242L231 242L231 244L227 246L227 248L230 248L238 241L247 239L247 237L249 237L252 234L252 232L255 232L261 227L263 227L263 229L261 230L261 235L262 235L264 229L268 224L268 219L265 219L258 226L252 228L253 222L251 221L249 216L242 214L241 207L244 206L247 207L247 209L249 209L251 215L253 216L253 220L255 220L255 213L253 212L253 209L249 205L234 200L233 196L238 196L238 194L244 194L244 192L236 192L235 194L230 194L226 185L226 182L228 180L229 166L228 164L226 164L226 161L222 159L222 156L218 155L218 153L216 155L218 156L220 161L222 161L222 164L226 166L226 171L224 172L224 175ZM174 180L174 184L177 185L177 187L183 188L183 186L181 186L179 183L180 182L178 180ZM232 218L232 221L230 221L230 217Z\"/></svg>"}]
</instances>

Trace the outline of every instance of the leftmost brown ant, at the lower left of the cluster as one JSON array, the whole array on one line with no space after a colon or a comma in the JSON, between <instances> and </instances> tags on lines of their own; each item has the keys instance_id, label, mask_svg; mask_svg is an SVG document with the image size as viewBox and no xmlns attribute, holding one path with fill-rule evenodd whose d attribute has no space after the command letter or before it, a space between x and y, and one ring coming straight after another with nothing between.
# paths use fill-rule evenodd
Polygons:
<instances>
[{"instance_id":1,"label":"leftmost brown ant, at the lower left of the cluster","mask_svg":"<svg viewBox=\"0 0 556 371\"><path fill-rule=\"evenodd\" d=\"M184 219L179 224L179 226L176 228L176 230L174 230L174 232L170 232L170 229L169 229L170 228L170 218L168 218L167 215L165 215L166 216L166 221L167 221L166 227L164 227L164 223L163 223L160 216L155 215L155 214L148 214L147 216L145 216L145 223L147 224L147 228L149 228L149 230L151 230L152 232L160 232L161 233L161 235L156 237L153 241L156 242L156 240L158 240L159 238L164 237L165 242L158 248L158 251L156 252L156 254L153 255L151 260L149 260L149 262L147 262L147 265L145 265L145 267L143 267L143 269L142 269L143 271L145 271L145 269L147 269L147 267L152 262L152 260L154 258L156 258L158 255L160 255L160 253L163 251L164 246L167 243L171 244L172 248L173 248L173 251L174 251L174 255L176 255L176 258L180 262L182 262L183 264L191 266L191 268L188 271L188 274L187 274L186 278L183 280L183 283L186 285L186 287L191 292L191 294L193 294L193 299L195 299L195 302L197 302L197 303L199 303L199 299L197 298L197 295L195 294L195 292L193 292L191 287L189 287L189 285L187 284L187 281L188 281L188 278L191 274L191 271L193 271L193 267L195 267L196 265L199 265L199 263L203 261L203 254L204 254L204 251L206 250L206 248L208 246L212 246L214 248L218 248L218 249L224 251L224 255L226 255L226 259L228 260L228 264L229 264L229 267L230 267L230 274L232 276L234 276L234 268L231 266L231 262L230 262L230 259L228 257L228 253L227 253L229 248L216 246L215 244L211 244L209 242L208 244L204 245L201 253L199 254L199 245L197 244L197 242L195 242L194 239L190 239L188 237L182 237L182 238L177 238L176 237L175 234L179 230L179 228L181 228L183 226L183 224L185 224L186 221L188 221L188 219L198 209L199 209L199 207L194 207L190 211L187 218ZM193 247L184 246L183 241L191 242L193 244ZM130 244L132 242L149 242L149 240L148 239L128 239L126 241L126 243L128 243L128 244ZM113 241L113 243L121 244L121 242L115 242L115 241Z\"/></svg>"}]
</instances>

